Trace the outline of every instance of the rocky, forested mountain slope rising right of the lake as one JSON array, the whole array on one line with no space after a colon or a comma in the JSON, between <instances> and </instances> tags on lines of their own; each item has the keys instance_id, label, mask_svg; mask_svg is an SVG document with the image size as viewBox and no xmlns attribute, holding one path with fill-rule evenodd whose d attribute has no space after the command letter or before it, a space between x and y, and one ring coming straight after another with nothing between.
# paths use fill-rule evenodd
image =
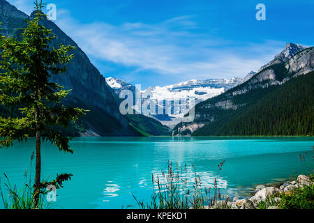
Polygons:
<instances>
[{"instance_id":1,"label":"rocky, forested mountain slope rising right of the lake","mask_svg":"<svg viewBox=\"0 0 314 223\"><path fill-rule=\"evenodd\" d=\"M194 122L180 123L172 134L313 135L314 48L299 50L279 54L290 59L281 57L244 84L196 105Z\"/></svg>"}]
</instances>

